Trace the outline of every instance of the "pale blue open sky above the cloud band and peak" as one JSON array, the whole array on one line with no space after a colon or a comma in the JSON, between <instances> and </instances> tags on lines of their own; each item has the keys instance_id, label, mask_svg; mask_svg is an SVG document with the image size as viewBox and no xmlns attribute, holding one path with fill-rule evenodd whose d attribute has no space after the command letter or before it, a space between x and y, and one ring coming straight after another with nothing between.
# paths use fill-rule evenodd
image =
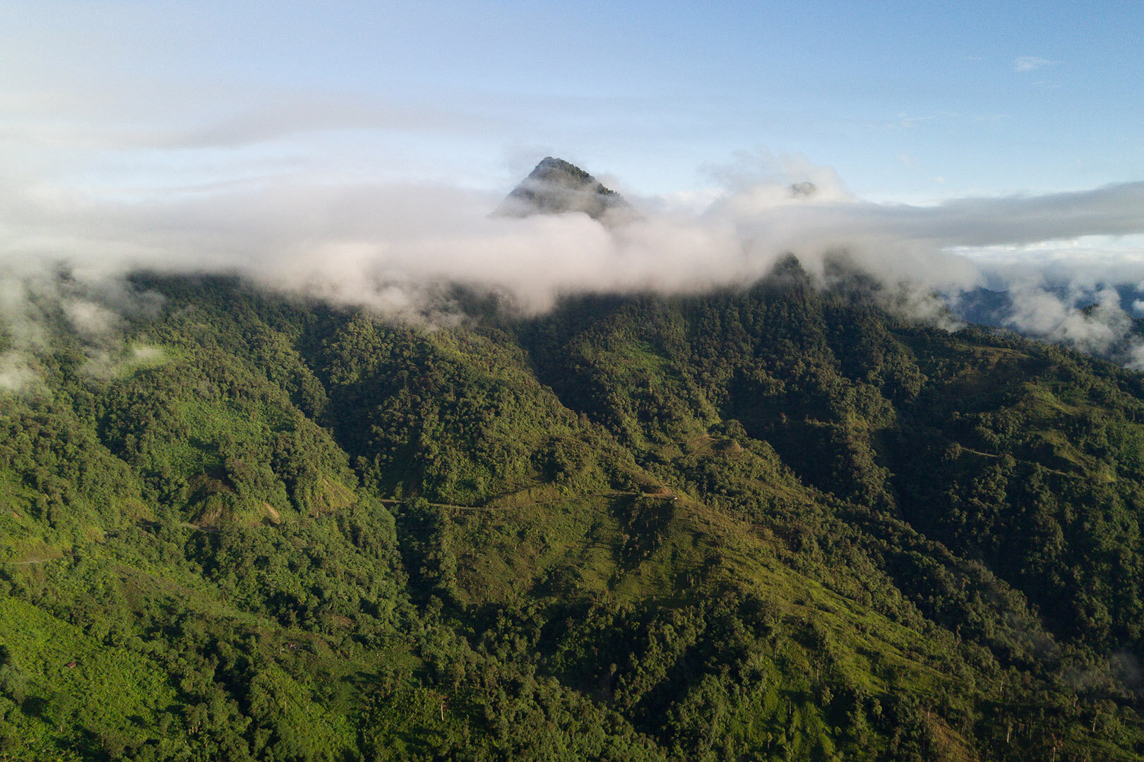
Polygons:
<instances>
[{"instance_id":1,"label":"pale blue open sky above the cloud band and peak","mask_svg":"<svg viewBox=\"0 0 1144 762\"><path fill-rule=\"evenodd\" d=\"M1138 2L714 6L6 3L0 150L124 193L547 153L644 195L787 154L877 201L1144 178Z\"/></svg>"}]
</instances>

